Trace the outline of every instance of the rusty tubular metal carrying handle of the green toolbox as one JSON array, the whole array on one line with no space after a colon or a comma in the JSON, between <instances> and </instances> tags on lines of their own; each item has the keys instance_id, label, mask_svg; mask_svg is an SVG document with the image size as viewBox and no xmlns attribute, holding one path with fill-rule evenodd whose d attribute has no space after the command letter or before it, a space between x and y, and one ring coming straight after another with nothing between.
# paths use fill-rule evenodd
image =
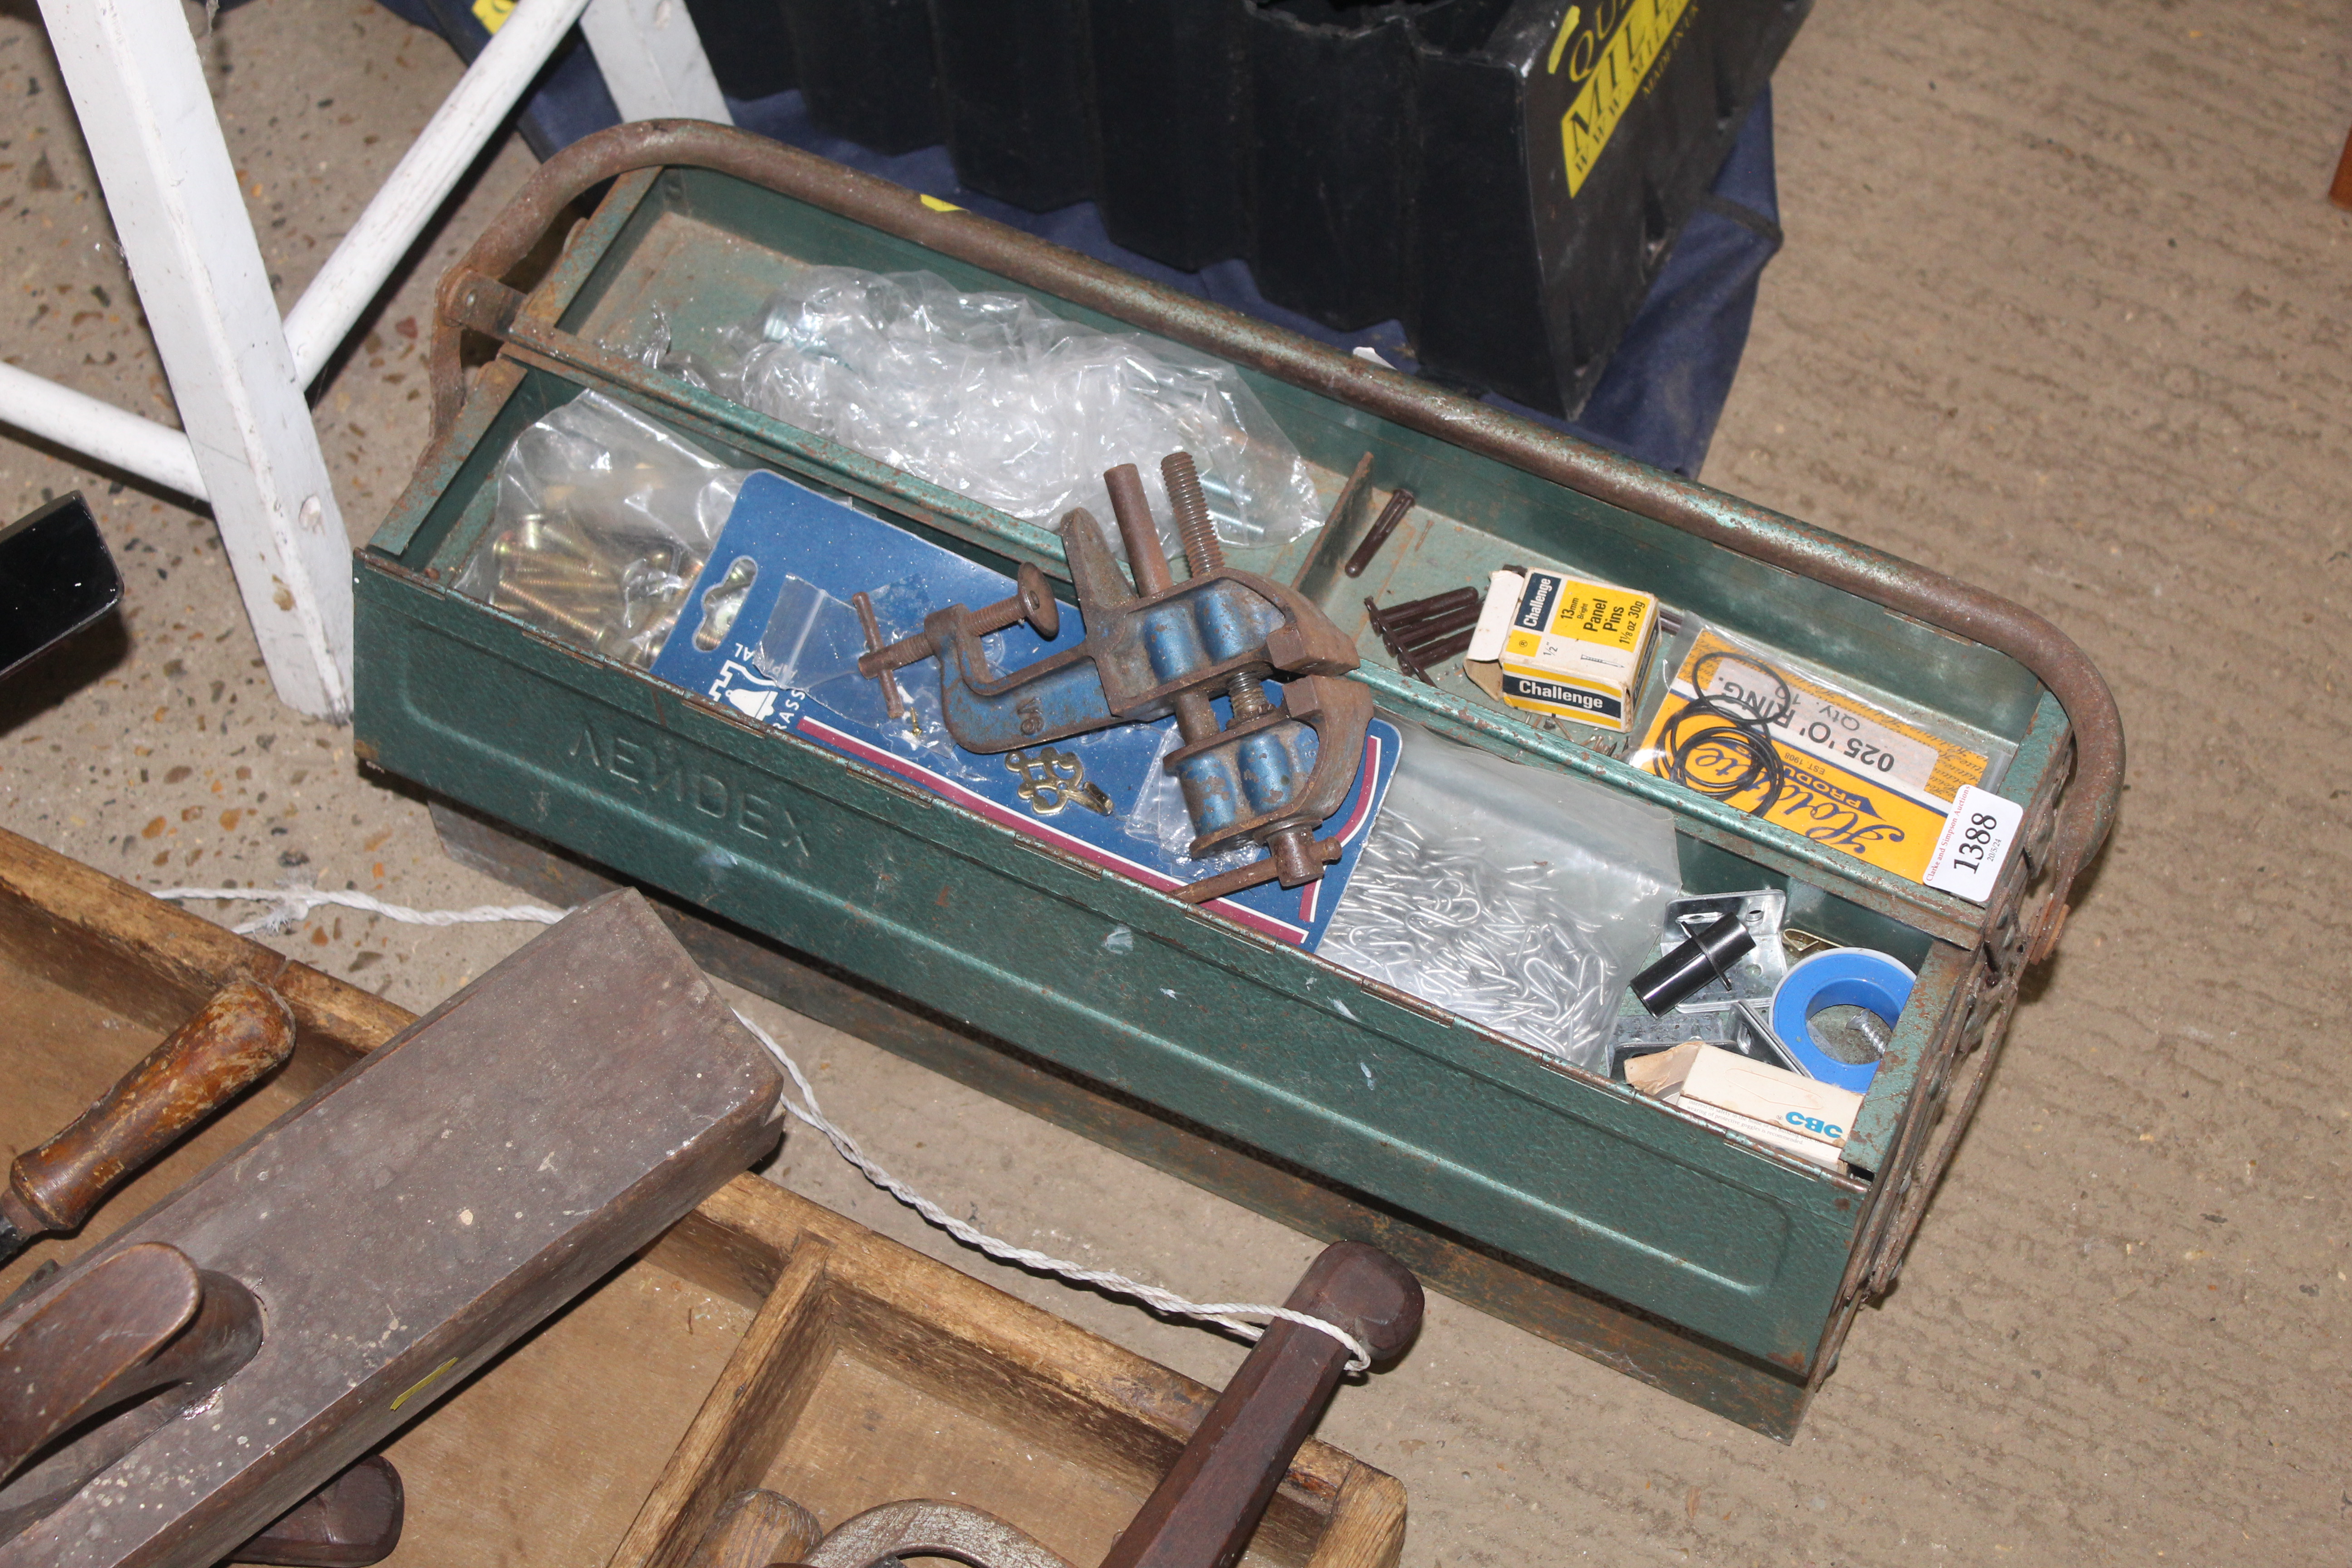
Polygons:
<instances>
[{"instance_id":1,"label":"rusty tubular metal carrying handle of the green toolbox","mask_svg":"<svg viewBox=\"0 0 2352 1568\"><path fill-rule=\"evenodd\" d=\"M2058 698L2072 729L2074 773L2058 802L2049 879L2032 914L2025 964L2056 947L2067 893L2114 823L2124 788L2124 722L2084 651L2034 611L978 214L929 207L903 186L764 136L701 120L640 120L595 132L541 165L442 277L428 360L435 440L449 433L466 402L459 348L468 282L503 282L576 197L621 174L661 167L710 169L811 202L2006 654Z\"/></svg>"}]
</instances>

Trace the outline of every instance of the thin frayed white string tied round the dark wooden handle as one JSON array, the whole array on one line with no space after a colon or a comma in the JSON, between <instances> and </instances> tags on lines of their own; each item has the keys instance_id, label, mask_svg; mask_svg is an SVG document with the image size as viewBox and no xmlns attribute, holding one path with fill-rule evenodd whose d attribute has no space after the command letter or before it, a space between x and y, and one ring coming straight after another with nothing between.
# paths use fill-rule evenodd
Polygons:
<instances>
[{"instance_id":1,"label":"thin frayed white string tied round the dark wooden handle","mask_svg":"<svg viewBox=\"0 0 2352 1568\"><path fill-rule=\"evenodd\" d=\"M546 905L475 905L470 910L412 910L407 905L386 903L386 900L374 898L369 893L332 891L332 889L165 889L165 891L155 893L155 898L216 898L216 900L240 900L240 903L270 903L270 905L278 905L268 914L261 914L256 919L245 922L242 926L235 926L235 931L240 931L240 933L275 931L275 929L292 926L294 922L299 922L301 917L306 917L310 910L315 910L320 905L336 905L336 907L343 907L343 910L365 910L369 914L383 914L386 919L397 919L397 922L405 922L405 924L412 924L412 926L463 926L463 924L485 924L485 922L503 922L503 919L536 922L536 924L543 924L543 926L553 926L564 914L569 914L569 910L550 910ZM1247 1319L1277 1319L1277 1321L1284 1321L1284 1324L1298 1324L1301 1328L1312 1328L1317 1333L1327 1333L1334 1340L1338 1340L1341 1345L1345 1345L1348 1347L1348 1371L1350 1373L1362 1373L1362 1371L1371 1368L1371 1347L1369 1345L1364 1345L1359 1338L1355 1338L1352 1333L1348 1333L1338 1324L1319 1319L1319 1316L1315 1316L1310 1312L1296 1312L1291 1307L1270 1307L1265 1302L1195 1302L1195 1300L1185 1300L1183 1295L1176 1295L1174 1291L1162 1291L1160 1286L1148 1286L1141 1279L1129 1279L1127 1274L1115 1274L1110 1269L1089 1269L1084 1265L1070 1262L1068 1258L1054 1258L1049 1253L1040 1253L1040 1251L1028 1248L1028 1246L1014 1246L1011 1241L1004 1241L1000 1237L990 1237L978 1225L967 1225L964 1220L957 1220L946 1208L941 1208L938 1204L934 1204L931 1199L922 1197L920 1192L915 1192L913 1187L908 1187L906 1182L901 1182L896 1175L891 1175L889 1171L884 1171L882 1166L877 1166L866 1154L866 1150L858 1147L856 1138L851 1138L837 1124L833 1124L830 1119L826 1119L826 1112L816 1105L816 1088L809 1084L807 1074L800 1070L800 1063L795 1063L793 1056L783 1046L779 1046L776 1039L767 1030L762 1030L757 1023L753 1023L743 1013L736 1013L736 1023L741 1023L746 1030L750 1030L753 1039L757 1039L762 1046L767 1046L769 1056L774 1056L776 1063L781 1063L783 1070L786 1070L786 1074L793 1079L793 1086L800 1088L800 1098L807 1100L807 1107L802 1107L800 1103L793 1100L793 1095L788 1091L779 1091L776 1100L779 1100L779 1105L786 1112L790 1112L795 1119L804 1121L809 1128L823 1133L826 1140L833 1145L833 1150L842 1159L847 1159L851 1166L856 1166L858 1173L866 1180L870 1180L875 1187L880 1187L882 1192L891 1194L894 1199L898 1199L901 1204L906 1204L917 1215L922 1215L924 1220L929 1220L938 1229L948 1232L950 1237L955 1237L964 1246L978 1248L981 1253L988 1253L997 1262L1009 1262L1009 1265L1023 1267L1023 1269L1042 1269L1047 1274L1058 1274L1061 1279L1068 1279L1073 1284L1096 1286L1098 1291L1110 1291L1112 1295L1124 1295L1129 1300L1138 1300L1145 1307L1150 1307L1152 1312L1164 1312L1164 1314L1171 1314L1171 1316L1190 1316L1190 1319L1200 1319L1204 1324L1216 1324L1218 1328L1225 1328L1225 1331L1230 1331L1230 1333L1235 1333L1235 1335L1240 1335L1240 1338L1244 1338L1249 1342L1256 1342L1256 1340L1265 1338L1265 1326L1263 1324L1251 1324Z\"/></svg>"}]
</instances>

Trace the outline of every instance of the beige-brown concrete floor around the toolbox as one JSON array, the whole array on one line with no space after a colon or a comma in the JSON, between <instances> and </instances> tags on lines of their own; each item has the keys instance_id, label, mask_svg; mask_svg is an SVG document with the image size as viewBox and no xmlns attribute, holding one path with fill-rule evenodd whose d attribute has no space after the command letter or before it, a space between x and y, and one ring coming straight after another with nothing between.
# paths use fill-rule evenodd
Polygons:
<instances>
[{"instance_id":1,"label":"beige-brown concrete floor around the toolbox","mask_svg":"<svg viewBox=\"0 0 2352 1568\"><path fill-rule=\"evenodd\" d=\"M456 66L367 0L256 0L202 47L292 301ZM2347 1559L2352 216L2321 200L2347 54L2343 7L2288 0L1825 2L1806 24L1778 78L1790 244L1705 477L2074 635L2131 736L2122 827L1804 1434L1435 1300L1409 1361L1324 1425L1411 1488L1414 1568ZM0 5L0 350L167 418L26 0ZM423 442L430 282L529 167L492 155L322 388L355 538ZM348 731L270 701L202 512L0 440L0 512L71 487L127 569L125 625L0 689L9 827L146 886L503 898L355 769ZM280 940L423 1006L527 936L322 914ZM887 1164L1002 1234L1207 1298L1279 1298L1312 1251L861 1041L790 1034ZM814 1140L781 1173L957 1255ZM1188 1373L1240 1359L960 1262Z\"/></svg>"}]
</instances>

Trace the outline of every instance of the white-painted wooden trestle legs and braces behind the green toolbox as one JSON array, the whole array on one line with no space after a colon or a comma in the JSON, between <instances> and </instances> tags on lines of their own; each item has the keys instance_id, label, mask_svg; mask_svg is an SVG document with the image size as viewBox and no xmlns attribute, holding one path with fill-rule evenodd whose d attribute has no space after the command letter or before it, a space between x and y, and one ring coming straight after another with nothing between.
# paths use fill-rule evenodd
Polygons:
<instances>
[{"instance_id":1,"label":"white-painted wooden trestle legs and braces behind the green toolbox","mask_svg":"<svg viewBox=\"0 0 2352 1568\"><path fill-rule=\"evenodd\" d=\"M576 21L623 118L729 125L694 21L682 0L522 0L280 322L179 5L42 19L186 435L14 367L0 421L212 501L280 701L348 717L350 545L303 388Z\"/></svg>"}]
</instances>

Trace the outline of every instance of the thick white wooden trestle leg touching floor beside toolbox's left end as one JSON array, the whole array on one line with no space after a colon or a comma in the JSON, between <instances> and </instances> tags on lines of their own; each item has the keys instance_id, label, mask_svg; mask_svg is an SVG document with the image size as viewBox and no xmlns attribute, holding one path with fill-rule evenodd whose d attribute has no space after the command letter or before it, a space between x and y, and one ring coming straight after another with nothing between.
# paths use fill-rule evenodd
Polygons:
<instances>
[{"instance_id":1,"label":"thick white wooden trestle leg touching floor beside toolbox's left end","mask_svg":"<svg viewBox=\"0 0 2352 1568\"><path fill-rule=\"evenodd\" d=\"M348 717L350 543L188 19L176 0L40 9L270 682Z\"/></svg>"}]
</instances>

